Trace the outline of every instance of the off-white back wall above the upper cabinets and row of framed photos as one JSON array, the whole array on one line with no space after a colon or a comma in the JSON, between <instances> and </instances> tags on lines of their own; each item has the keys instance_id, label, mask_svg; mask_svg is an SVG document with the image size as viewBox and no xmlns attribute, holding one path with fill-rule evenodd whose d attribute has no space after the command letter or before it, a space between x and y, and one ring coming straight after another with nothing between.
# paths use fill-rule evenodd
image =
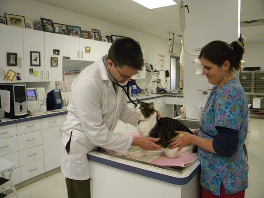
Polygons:
<instances>
[{"instance_id":1,"label":"off-white back wall above the upper cabinets and row of framed photos","mask_svg":"<svg viewBox=\"0 0 264 198\"><path fill-rule=\"evenodd\" d=\"M91 31L91 28L95 28L101 30L103 37L106 35L131 37L136 41L139 41L141 48L145 49L146 63L158 65L158 54L163 54L165 55L165 70L169 70L170 58L168 54L168 41L165 39L34 0L0 0L0 16L4 16L4 13L25 16L26 22L40 20L40 17L43 17L52 19L53 22L56 23L81 26L82 30ZM180 55L180 49L180 45L175 43L174 52ZM144 87L148 82L149 77L150 75L147 74L147 79L137 80L139 86ZM165 80L164 71L161 72L160 78L163 81ZM169 85L169 78L167 80ZM36 85L36 87L46 87L49 89L48 91L50 91L50 89L53 89L54 83L30 84L30 86L34 85Z\"/></svg>"}]
</instances>

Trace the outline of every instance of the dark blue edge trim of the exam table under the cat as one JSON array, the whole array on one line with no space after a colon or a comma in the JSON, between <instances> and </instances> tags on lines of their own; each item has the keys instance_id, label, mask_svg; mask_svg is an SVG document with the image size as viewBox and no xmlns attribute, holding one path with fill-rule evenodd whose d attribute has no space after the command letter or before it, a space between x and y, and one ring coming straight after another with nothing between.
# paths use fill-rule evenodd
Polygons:
<instances>
[{"instance_id":1,"label":"dark blue edge trim of the exam table under the cat","mask_svg":"<svg viewBox=\"0 0 264 198\"><path fill-rule=\"evenodd\" d=\"M129 165L126 165L126 164L114 162L114 161L111 161L111 160L108 160L108 159L104 159L104 158L101 158L101 157L97 157L97 156L94 156L94 155L89 155L88 154L88 159L91 160L91 161L95 161L95 162L107 165L107 166L111 166L111 167L118 168L118 169L121 169L121 170L124 170L124 171L128 171L130 173L143 175L145 177L149 177L149 178L152 178L152 179L157 179L157 180L160 180L160 181L163 181L163 182L167 182L167 183L170 183L170 184L175 184L175 185L185 185L185 184L189 183L191 181L191 179L195 176L195 174L197 174L198 171L200 170L200 165L199 165L199 166L197 166L194 169L194 171L188 177L175 178L175 177L171 177L171 176L168 176L168 175L163 175L163 174L160 174L160 173L152 172L152 171L149 171L149 170L144 170L144 169L141 169L141 168L137 168L137 167L129 166Z\"/></svg>"}]
</instances>

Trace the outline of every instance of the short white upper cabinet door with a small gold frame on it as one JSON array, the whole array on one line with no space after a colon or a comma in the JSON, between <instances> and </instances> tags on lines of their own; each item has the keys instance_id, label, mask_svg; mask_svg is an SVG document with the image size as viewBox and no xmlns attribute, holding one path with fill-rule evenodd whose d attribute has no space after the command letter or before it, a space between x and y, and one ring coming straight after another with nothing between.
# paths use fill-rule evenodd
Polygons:
<instances>
[{"instance_id":1,"label":"short white upper cabinet door with a small gold frame on it","mask_svg":"<svg viewBox=\"0 0 264 198\"><path fill-rule=\"evenodd\" d=\"M95 61L95 41L80 38L80 60Z\"/></svg>"}]
</instances>

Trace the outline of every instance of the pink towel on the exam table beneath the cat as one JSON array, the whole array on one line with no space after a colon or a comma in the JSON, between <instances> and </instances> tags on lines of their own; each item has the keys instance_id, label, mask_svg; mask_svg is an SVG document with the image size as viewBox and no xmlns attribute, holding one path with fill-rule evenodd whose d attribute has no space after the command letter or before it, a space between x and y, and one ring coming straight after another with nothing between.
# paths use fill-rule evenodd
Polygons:
<instances>
[{"instance_id":1,"label":"pink towel on the exam table beneath the cat","mask_svg":"<svg viewBox=\"0 0 264 198\"><path fill-rule=\"evenodd\" d=\"M159 157L158 159L151 162L152 164L157 164L160 166L179 166L179 167L186 167L190 165L192 162L198 159L197 152L191 153L182 157L178 158L168 158L168 157Z\"/></svg>"}]
</instances>

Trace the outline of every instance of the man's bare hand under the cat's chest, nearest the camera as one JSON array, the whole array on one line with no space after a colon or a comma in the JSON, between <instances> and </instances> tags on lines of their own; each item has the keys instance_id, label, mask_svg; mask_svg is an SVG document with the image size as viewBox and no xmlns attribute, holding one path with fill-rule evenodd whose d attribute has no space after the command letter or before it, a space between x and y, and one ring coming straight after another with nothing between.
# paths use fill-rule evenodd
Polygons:
<instances>
[{"instance_id":1,"label":"man's bare hand under the cat's chest, nearest the camera","mask_svg":"<svg viewBox=\"0 0 264 198\"><path fill-rule=\"evenodd\" d=\"M132 145L139 146L146 150L156 150L160 148L155 142L158 142L159 138L152 138L152 137L134 137Z\"/></svg>"}]
</instances>

